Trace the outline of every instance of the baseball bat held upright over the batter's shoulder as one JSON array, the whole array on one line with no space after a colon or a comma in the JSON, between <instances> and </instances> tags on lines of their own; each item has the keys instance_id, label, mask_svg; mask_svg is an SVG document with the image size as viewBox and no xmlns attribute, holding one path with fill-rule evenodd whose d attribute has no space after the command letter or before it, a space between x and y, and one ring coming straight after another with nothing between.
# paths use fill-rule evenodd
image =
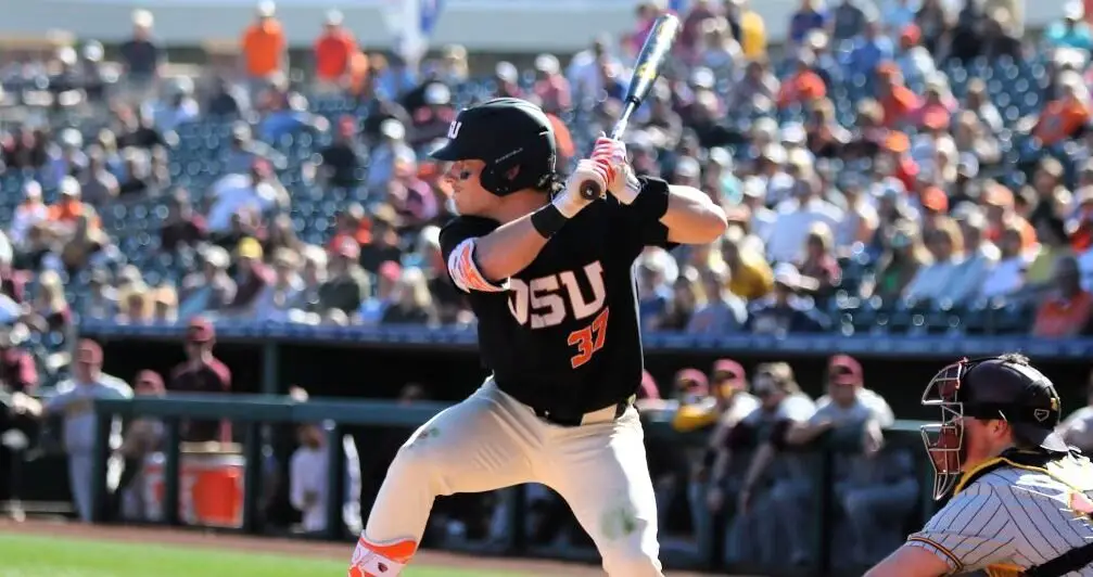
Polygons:
<instances>
[{"instance_id":1,"label":"baseball bat held upright over the batter's shoulder","mask_svg":"<svg viewBox=\"0 0 1093 577\"><path fill-rule=\"evenodd\" d=\"M626 97L623 98L622 114L619 115L619 119L611 128L610 138L612 140L618 140L626 132L631 115L642 106L645 97L649 95L649 91L653 90L653 84L660 75L660 69L668 58L668 51L675 44L679 32L680 20L673 14L661 15L653 25L649 36L645 39L645 45L642 46L642 51L637 55L634 73L630 76L630 87L626 89ZM580 185L580 196L592 200L603 196L603 190L599 182L588 180Z\"/></svg>"}]
</instances>

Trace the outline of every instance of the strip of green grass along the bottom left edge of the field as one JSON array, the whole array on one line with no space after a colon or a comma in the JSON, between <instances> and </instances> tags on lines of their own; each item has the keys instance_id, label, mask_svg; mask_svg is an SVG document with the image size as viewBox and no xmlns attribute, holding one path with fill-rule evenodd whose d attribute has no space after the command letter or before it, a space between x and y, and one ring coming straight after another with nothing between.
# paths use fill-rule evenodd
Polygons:
<instances>
[{"instance_id":1,"label":"strip of green grass along the bottom left edge of the field","mask_svg":"<svg viewBox=\"0 0 1093 577\"><path fill-rule=\"evenodd\" d=\"M340 577L345 563L211 547L0 533L0 577ZM407 577L518 577L411 566Z\"/></svg>"}]
</instances>

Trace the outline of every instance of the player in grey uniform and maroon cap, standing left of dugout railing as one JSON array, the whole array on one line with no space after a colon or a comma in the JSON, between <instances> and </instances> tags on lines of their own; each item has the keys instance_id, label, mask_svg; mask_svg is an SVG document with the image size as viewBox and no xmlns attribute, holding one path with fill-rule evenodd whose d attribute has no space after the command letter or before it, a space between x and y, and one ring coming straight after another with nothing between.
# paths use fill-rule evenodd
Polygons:
<instances>
[{"instance_id":1,"label":"player in grey uniform and maroon cap, standing left of dugout railing","mask_svg":"<svg viewBox=\"0 0 1093 577\"><path fill-rule=\"evenodd\" d=\"M75 349L72 378L59 382L54 396L45 403L39 403L23 395L16 402L16 409L25 413L36 416L56 414L62 417L62 437L69 461L69 490L83 522L91 522L94 513L92 472L97 437L94 400L129 399L132 395L132 389L124 380L103 373L102 346L84 339ZM111 450L121 444L121 422L118 419L111 423L108 444Z\"/></svg>"}]
</instances>

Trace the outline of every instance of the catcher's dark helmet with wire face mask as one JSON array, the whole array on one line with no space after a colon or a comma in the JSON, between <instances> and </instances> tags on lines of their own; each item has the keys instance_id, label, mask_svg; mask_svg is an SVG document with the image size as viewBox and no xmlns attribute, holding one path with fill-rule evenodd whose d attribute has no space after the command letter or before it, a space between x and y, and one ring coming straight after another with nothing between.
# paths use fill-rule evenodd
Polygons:
<instances>
[{"instance_id":1,"label":"catcher's dark helmet with wire face mask","mask_svg":"<svg viewBox=\"0 0 1093 577\"><path fill-rule=\"evenodd\" d=\"M964 473L963 417L1004 420L1022 445L1049 452L1070 450L1055 433L1062 409L1055 385L1021 355L964 358L949 365L930 380L922 404L941 409L941 423L921 427L933 464L936 499Z\"/></svg>"}]
</instances>

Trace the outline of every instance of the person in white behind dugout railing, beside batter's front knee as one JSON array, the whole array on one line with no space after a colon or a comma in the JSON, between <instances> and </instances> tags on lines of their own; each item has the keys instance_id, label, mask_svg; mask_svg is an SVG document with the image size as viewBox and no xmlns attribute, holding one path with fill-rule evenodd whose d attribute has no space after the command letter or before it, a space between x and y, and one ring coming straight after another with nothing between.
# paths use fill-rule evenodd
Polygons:
<instances>
[{"instance_id":1,"label":"person in white behind dugout railing, beside batter's front knee","mask_svg":"<svg viewBox=\"0 0 1093 577\"><path fill-rule=\"evenodd\" d=\"M299 448L292 454L289 470L289 501L303 514L304 531L318 533L327 529L327 498L330 485L330 454L328 445L331 423L303 424L297 429ZM342 499L342 522L345 528L357 533L361 522L361 460L356 452L353 437L344 435L341 439L342 451L345 454L345 494Z\"/></svg>"}]
</instances>

